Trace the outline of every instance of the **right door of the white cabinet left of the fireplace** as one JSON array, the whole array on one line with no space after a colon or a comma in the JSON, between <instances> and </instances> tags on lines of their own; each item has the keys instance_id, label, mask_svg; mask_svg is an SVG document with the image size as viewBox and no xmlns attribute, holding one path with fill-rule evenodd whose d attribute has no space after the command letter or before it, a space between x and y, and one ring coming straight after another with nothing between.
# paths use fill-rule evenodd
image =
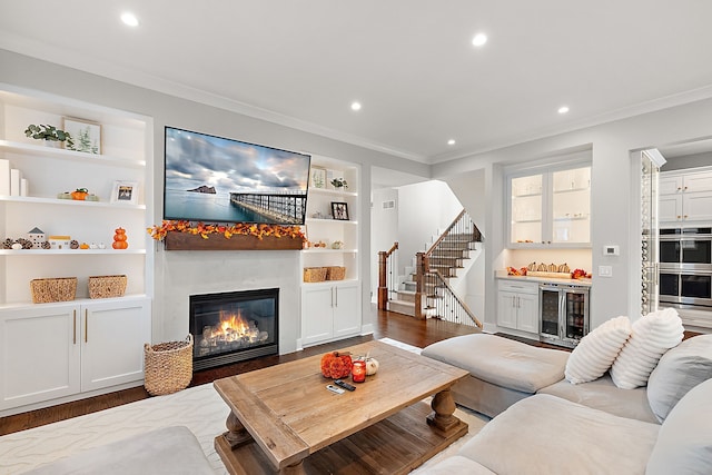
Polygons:
<instances>
[{"instance_id":1,"label":"right door of the white cabinet left of the fireplace","mask_svg":"<svg viewBox=\"0 0 712 475\"><path fill-rule=\"evenodd\" d=\"M81 306L81 390L144 378L144 344L150 343L150 300Z\"/></svg>"}]
</instances>

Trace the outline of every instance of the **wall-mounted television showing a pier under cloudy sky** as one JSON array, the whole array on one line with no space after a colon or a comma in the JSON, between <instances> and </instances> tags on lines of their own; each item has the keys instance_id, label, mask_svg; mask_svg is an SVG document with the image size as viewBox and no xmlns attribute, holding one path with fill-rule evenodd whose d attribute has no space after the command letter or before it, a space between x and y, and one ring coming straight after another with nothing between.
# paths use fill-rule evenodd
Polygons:
<instances>
[{"instance_id":1,"label":"wall-mounted television showing a pier under cloudy sky","mask_svg":"<svg viewBox=\"0 0 712 475\"><path fill-rule=\"evenodd\" d=\"M164 219L303 225L309 155L166 127Z\"/></svg>"}]
</instances>

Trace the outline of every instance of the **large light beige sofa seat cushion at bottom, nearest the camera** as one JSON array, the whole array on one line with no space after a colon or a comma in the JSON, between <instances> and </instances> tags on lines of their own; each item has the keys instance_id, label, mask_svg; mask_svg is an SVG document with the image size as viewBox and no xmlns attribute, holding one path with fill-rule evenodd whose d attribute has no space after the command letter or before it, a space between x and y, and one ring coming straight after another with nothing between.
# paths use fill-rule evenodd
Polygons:
<instances>
[{"instance_id":1,"label":"large light beige sofa seat cushion at bottom, nearest the camera","mask_svg":"<svg viewBox=\"0 0 712 475\"><path fill-rule=\"evenodd\" d=\"M537 394L487 423L459 455L502 475L642 474L659 429Z\"/></svg>"}]
</instances>

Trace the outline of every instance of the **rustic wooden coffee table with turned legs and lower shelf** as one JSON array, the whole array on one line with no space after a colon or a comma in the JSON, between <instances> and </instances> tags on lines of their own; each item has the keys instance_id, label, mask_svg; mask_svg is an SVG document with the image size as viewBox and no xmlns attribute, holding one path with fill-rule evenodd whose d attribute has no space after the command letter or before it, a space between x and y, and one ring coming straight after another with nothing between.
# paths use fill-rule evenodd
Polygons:
<instances>
[{"instance_id":1,"label":"rustic wooden coffee table with turned legs and lower shelf","mask_svg":"<svg viewBox=\"0 0 712 475\"><path fill-rule=\"evenodd\" d=\"M215 438L231 474L406 474L467 433L449 392L466 370L378 340L343 352L380 367L345 378L356 390L340 395L326 389L322 355L214 383L231 409Z\"/></svg>"}]
</instances>

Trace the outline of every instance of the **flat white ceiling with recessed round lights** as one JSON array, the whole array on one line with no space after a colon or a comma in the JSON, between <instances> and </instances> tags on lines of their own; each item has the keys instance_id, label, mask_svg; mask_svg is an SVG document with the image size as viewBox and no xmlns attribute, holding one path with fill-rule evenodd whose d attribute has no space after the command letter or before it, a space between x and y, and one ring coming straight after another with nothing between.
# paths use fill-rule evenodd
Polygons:
<instances>
[{"instance_id":1,"label":"flat white ceiling with recessed round lights","mask_svg":"<svg viewBox=\"0 0 712 475\"><path fill-rule=\"evenodd\" d=\"M0 0L0 48L438 162L712 97L711 19L706 0Z\"/></svg>"}]
</instances>

